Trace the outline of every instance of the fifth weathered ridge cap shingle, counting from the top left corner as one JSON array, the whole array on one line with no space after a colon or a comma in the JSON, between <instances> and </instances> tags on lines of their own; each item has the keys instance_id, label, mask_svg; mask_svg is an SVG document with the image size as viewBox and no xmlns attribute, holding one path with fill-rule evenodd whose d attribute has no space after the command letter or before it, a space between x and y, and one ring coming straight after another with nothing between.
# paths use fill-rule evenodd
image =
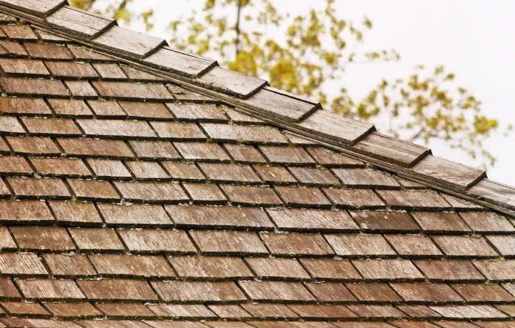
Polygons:
<instances>
[{"instance_id":1,"label":"fifth weathered ridge cap shingle, counting from the top left corner","mask_svg":"<svg viewBox=\"0 0 515 328\"><path fill-rule=\"evenodd\" d=\"M221 67L213 67L196 82L205 88L243 99L255 94L268 83L260 78Z\"/></svg>"}]
</instances>

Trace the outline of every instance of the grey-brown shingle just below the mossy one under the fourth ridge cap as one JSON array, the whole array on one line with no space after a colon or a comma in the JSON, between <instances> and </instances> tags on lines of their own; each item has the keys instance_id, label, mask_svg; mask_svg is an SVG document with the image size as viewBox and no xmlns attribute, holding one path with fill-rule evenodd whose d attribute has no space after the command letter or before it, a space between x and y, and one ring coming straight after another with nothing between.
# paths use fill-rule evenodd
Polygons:
<instances>
[{"instance_id":1,"label":"grey-brown shingle just below the mossy one under the fourth ridge cap","mask_svg":"<svg viewBox=\"0 0 515 328\"><path fill-rule=\"evenodd\" d=\"M178 120L185 121L198 121L203 122L228 122L227 117L222 111L223 108L218 108L207 103L180 103L169 102L166 106L174 113Z\"/></svg>"}]
</instances>

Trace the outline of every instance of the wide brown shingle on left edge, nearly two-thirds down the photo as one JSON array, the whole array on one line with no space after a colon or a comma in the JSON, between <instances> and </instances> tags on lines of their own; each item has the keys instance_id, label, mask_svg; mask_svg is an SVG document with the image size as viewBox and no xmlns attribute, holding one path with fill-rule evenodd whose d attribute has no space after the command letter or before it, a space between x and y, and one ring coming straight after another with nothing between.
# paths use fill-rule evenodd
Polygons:
<instances>
[{"instance_id":1,"label":"wide brown shingle on left edge, nearly two-thirds down the photo","mask_svg":"<svg viewBox=\"0 0 515 328\"><path fill-rule=\"evenodd\" d=\"M54 222L54 216L44 202L28 201L0 201L0 221L11 221L16 224L38 222Z\"/></svg>"}]
</instances>

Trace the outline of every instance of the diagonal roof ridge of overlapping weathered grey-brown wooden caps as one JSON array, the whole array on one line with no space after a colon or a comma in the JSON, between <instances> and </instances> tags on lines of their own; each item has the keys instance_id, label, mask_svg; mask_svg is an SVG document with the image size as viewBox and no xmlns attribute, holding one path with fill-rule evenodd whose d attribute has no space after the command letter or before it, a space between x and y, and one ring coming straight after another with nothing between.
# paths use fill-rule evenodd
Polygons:
<instances>
[{"instance_id":1,"label":"diagonal roof ridge of overlapping weathered grey-brown wooden caps","mask_svg":"<svg viewBox=\"0 0 515 328\"><path fill-rule=\"evenodd\" d=\"M119 27L113 19L68 6L66 0L0 0L0 10L401 177L515 216L515 187L487 179L484 170L435 157L431 149L324 111L320 103L274 89L263 79L172 49L164 39Z\"/></svg>"}]
</instances>

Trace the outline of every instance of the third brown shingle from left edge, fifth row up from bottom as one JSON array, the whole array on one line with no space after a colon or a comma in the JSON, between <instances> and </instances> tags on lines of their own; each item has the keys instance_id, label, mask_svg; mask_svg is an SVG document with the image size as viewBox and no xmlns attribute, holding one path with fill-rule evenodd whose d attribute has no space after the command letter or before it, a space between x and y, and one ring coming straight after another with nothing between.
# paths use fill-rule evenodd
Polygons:
<instances>
[{"instance_id":1,"label":"third brown shingle from left edge, fifth row up from bottom","mask_svg":"<svg viewBox=\"0 0 515 328\"><path fill-rule=\"evenodd\" d=\"M125 249L114 230L70 228L68 231L81 251Z\"/></svg>"}]
</instances>

